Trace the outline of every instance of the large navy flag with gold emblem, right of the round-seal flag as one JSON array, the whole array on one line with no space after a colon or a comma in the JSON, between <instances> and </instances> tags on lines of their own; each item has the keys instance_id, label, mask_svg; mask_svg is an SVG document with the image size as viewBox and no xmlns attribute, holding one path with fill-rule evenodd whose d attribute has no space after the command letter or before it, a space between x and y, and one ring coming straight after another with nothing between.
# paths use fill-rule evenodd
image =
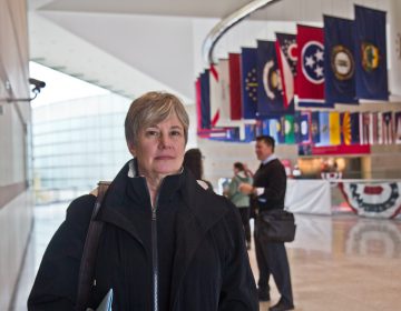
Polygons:
<instances>
[{"instance_id":1,"label":"large navy flag with gold emblem, right of the round-seal flag","mask_svg":"<svg viewBox=\"0 0 401 311\"><path fill-rule=\"evenodd\" d=\"M356 98L389 100L385 12L355 6Z\"/></svg>"}]
</instances>

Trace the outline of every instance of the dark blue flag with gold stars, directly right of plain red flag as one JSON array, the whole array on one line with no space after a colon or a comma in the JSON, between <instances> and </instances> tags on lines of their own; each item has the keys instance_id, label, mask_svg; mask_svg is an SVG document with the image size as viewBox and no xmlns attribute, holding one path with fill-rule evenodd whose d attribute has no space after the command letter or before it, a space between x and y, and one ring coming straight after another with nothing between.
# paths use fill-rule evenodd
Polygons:
<instances>
[{"instance_id":1,"label":"dark blue flag with gold stars, directly right of plain red flag","mask_svg":"<svg viewBox=\"0 0 401 311\"><path fill-rule=\"evenodd\" d=\"M242 118L256 119L257 112L257 73L256 49L242 48L241 53L241 89Z\"/></svg>"}]
</instances>

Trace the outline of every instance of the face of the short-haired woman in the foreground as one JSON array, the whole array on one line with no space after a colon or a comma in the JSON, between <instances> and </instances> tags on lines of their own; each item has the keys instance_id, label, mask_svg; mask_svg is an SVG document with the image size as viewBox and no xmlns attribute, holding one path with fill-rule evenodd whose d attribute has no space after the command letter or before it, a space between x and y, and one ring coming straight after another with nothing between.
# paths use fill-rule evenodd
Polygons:
<instances>
[{"instance_id":1,"label":"face of the short-haired woman in the foreground","mask_svg":"<svg viewBox=\"0 0 401 311\"><path fill-rule=\"evenodd\" d=\"M174 113L158 124L141 129L129 151L138 161L140 174L147 178L177 173L184 160L184 127Z\"/></svg>"}]
</instances>

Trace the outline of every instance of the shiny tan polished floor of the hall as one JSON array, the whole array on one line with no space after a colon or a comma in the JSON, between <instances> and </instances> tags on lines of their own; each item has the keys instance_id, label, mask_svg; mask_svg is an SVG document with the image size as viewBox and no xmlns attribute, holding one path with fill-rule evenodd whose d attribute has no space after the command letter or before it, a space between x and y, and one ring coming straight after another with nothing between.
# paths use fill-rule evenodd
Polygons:
<instances>
[{"instance_id":1,"label":"shiny tan polished floor of the hall","mask_svg":"<svg viewBox=\"0 0 401 311\"><path fill-rule=\"evenodd\" d=\"M45 248L65 218L66 204L37 207L35 229L14 310L26 300ZM287 244L295 310L393 311L401 309L401 221L352 214L296 214L297 232ZM254 248L250 251L257 278ZM272 304L278 293L271 279ZM270 303L261 303L261 311Z\"/></svg>"}]
</instances>

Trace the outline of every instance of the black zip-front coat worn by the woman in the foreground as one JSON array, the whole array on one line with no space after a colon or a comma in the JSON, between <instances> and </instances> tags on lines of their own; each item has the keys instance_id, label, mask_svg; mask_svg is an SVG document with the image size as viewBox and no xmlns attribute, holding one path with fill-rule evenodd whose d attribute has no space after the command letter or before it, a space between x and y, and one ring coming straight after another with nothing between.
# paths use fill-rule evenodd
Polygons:
<instances>
[{"instance_id":1,"label":"black zip-front coat worn by the woman in the foreground","mask_svg":"<svg viewBox=\"0 0 401 311\"><path fill-rule=\"evenodd\" d=\"M156 310L150 199L145 179L128 177L129 167L116 177L98 213L105 227L91 308L113 288L113 310ZM68 208L43 255L29 310L74 310L95 200L84 195ZM204 190L184 170L164 179L157 217L159 311L258 310L244 231L233 204Z\"/></svg>"}]
</instances>

